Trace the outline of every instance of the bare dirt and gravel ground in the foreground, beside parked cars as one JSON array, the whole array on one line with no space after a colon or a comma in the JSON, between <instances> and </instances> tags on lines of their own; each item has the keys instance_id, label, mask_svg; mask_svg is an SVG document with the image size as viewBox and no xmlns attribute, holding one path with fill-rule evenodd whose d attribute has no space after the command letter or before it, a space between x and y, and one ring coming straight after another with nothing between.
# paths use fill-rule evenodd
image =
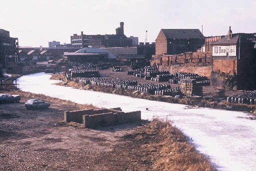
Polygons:
<instances>
[{"instance_id":1,"label":"bare dirt and gravel ground in the foreground, beside parked cars","mask_svg":"<svg viewBox=\"0 0 256 171\"><path fill-rule=\"evenodd\" d=\"M72 102L41 96L51 102L50 108L27 110L24 102L28 98L24 96L35 96L16 93L23 94L20 103L0 105L0 170L110 171L135 167L127 163L130 155L124 159L116 156L125 154L119 146L130 140L122 137L132 133L137 124L97 130L74 128L61 122L63 111L86 105L75 106ZM129 148L125 151L132 152Z\"/></svg>"}]
</instances>

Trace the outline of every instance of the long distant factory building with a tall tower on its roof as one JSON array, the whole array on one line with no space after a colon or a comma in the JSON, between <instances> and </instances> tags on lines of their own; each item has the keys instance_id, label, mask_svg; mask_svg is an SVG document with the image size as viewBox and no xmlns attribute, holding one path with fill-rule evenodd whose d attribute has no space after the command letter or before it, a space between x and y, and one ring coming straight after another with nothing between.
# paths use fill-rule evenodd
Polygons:
<instances>
[{"instance_id":1,"label":"long distant factory building with a tall tower on its roof","mask_svg":"<svg viewBox=\"0 0 256 171\"><path fill-rule=\"evenodd\" d=\"M124 35L124 23L120 22L120 27L115 29L115 34L86 35L81 31L81 35L70 36L70 43L73 47L130 47L132 40Z\"/></svg>"}]
</instances>

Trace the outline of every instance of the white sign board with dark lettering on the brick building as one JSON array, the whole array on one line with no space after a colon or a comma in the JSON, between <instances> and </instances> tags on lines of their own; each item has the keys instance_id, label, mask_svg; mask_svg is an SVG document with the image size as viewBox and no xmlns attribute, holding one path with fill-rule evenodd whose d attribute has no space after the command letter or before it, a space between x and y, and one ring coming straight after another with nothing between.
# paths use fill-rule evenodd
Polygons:
<instances>
[{"instance_id":1,"label":"white sign board with dark lettering on the brick building","mask_svg":"<svg viewBox=\"0 0 256 171\"><path fill-rule=\"evenodd\" d=\"M212 56L236 56L236 45L212 46Z\"/></svg>"}]
</instances>

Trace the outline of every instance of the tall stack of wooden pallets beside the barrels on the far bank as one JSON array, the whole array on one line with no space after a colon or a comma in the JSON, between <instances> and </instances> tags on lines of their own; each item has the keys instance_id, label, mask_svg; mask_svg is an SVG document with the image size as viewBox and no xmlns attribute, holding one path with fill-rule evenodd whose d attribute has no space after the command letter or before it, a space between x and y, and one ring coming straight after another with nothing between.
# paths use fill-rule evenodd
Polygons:
<instances>
[{"instance_id":1,"label":"tall stack of wooden pallets beside the barrels on the far bank","mask_svg":"<svg viewBox=\"0 0 256 171\"><path fill-rule=\"evenodd\" d=\"M180 90L183 95L189 97L202 95L202 87L196 86L195 79L180 79Z\"/></svg>"}]
</instances>

